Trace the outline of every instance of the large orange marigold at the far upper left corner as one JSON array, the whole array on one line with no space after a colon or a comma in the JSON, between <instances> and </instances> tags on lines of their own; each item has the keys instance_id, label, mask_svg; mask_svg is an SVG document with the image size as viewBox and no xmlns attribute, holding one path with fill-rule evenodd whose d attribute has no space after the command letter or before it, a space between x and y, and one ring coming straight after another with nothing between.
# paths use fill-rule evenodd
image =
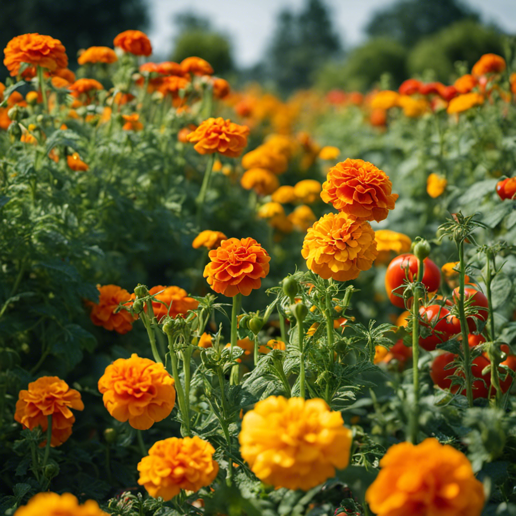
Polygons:
<instances>
[{"instance_id":1,"label":"large orange marigold at the far upper left corner","mask_svg":"<svg viewBox=\"0 0 516 516\"><path fill-rule=\"evenodd\" d=\"M11 39L4 54L4 65L12 76L18 75L22 62L51 71L68 66L68 57L61 42L38 33L22 34Z\"/></svg>"}]
</instances>

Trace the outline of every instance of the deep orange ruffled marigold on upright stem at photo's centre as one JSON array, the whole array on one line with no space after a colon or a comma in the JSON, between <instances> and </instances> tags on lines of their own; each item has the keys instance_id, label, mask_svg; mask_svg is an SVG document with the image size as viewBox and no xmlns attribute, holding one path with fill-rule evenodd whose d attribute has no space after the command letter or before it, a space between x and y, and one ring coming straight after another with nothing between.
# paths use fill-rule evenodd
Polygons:
<instances>
[{"instance_id":1,"label":"deep orange ruffled marigold on upright stem at photo's centre","mask_svg":"<svg viewBox=\"0 0 516 516\"><path fill-rule=\"evenodd\" d=\"M249 296L269 273L270 256L254 238L228 238L208 256L211 262L203 276L215 292L224 296Z\"/></svg>"}]
</instances>

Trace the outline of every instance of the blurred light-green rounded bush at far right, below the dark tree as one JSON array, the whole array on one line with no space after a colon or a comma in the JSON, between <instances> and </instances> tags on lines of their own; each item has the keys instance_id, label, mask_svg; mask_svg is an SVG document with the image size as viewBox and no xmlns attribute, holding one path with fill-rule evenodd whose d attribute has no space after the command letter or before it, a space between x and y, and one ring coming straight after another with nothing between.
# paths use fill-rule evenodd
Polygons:
<instances>
[{"instance_id":1,"label":"blurred light-green rounded bush at far right, below the dark tree","mask_svg":"<svg viewBox=\"0 0 516 516\"><path fill-rule=\"evenodd\" d=\"M409 54L408 70L412 75L433 70L434 78L449 82L456 74L456 61L464 61L469 71L482 54L490 52L503 55L502 34L466 20L421 40Z\"/></svg>"}]
</instances>

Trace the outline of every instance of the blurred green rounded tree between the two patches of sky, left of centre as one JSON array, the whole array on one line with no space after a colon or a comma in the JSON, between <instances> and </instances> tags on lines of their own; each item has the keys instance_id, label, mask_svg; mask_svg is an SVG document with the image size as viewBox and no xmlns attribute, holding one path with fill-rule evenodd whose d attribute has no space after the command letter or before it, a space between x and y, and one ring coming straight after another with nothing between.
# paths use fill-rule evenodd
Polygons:
<instances>
[{"instance_id":1,"label":"blurred green rounded tree between the two patches of sky, left of centre","mask_svg":"<svg viewBox=\"0 0 516 516\"><path fill-rule=\"evenodd\" d=\"M193 12L184 12L176 15L174 22L179 34L170 56L172 61L181 62L185 57L197 56L206 59L217 75L233 70L230 40L214 30L207 18Z\"/></svg>"}]
</instances>

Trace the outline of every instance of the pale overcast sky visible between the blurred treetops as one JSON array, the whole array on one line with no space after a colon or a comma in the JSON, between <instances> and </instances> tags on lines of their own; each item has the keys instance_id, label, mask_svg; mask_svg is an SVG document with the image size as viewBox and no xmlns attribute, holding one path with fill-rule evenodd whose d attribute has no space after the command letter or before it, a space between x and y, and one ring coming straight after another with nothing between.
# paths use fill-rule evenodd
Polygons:
<instances>
[{"instance_id":1,"label":"pale overcast sky visible between the blurred treetops","mask_svg":"<svg viewBox=\"0 0 516 516\"><path fill-rule=\"evenodd\" d=\"M213 26L231 37L234 57L240 67L252 66L265 54L276 27L276 17L284 7L299 11L305 0L148 0L151 11L149 36L154 54L164 56L172 49L175 35L173 17L185 11L204 15ZM434 0L440 2L440 0ZM326 0L335 27L346 46L364 39L363 28L386 0ZM484 21L493 21L508 33L516 34L516 0L467 0Z\"/></svg>"}]
</instances>

